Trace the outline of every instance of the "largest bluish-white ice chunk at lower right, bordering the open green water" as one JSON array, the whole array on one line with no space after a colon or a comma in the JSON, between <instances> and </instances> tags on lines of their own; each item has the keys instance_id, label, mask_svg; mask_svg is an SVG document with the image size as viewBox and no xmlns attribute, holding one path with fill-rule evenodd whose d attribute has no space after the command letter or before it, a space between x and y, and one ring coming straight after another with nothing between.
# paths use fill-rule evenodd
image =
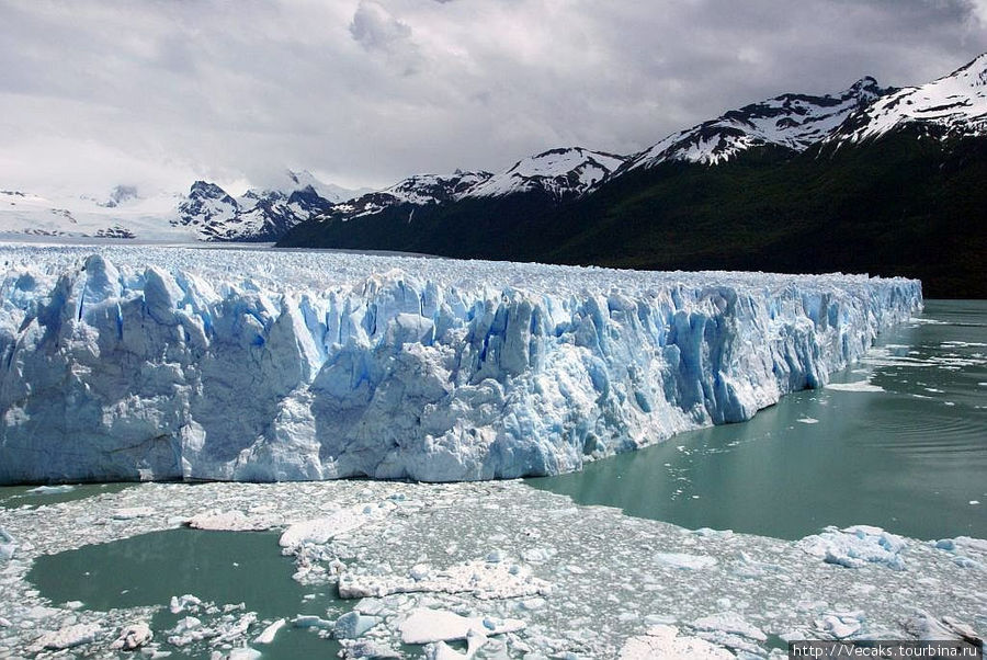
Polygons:
<instances>
[{"instance_id":1,"label":"largest bluish-white ice chunk at lower right, bordering the open green water","mask_svg":"<svg viewBox=\"0 0 987 660\"><path fill-rule=\"evenodd\" d=\"M796 546L827 564L846 568L881 564L892 570L905 570L900 554L907 547L905 539L881 527L855 525L841 531L830 526L821 534L806 536Z\"/></svg>"}]
</instances>

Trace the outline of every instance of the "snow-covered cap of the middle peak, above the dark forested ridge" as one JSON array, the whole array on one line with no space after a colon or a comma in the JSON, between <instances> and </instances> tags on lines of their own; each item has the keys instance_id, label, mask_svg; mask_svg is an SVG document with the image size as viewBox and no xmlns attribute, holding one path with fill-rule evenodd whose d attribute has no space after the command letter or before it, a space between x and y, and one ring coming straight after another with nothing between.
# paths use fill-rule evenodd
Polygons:
<instances>
[{"instance_id":1,"label":"snow-covered cap of the middle peak, above the dark forested ridge","mask_svg":"<svg viewBox=\"0 0 987 660\"><path fill-rule=\"evenodd\" d=\"M519 192L544 191L563 200L579 196L617 170L626 156L591 151L582 147L551 149L517 162L512 168L467 191L465 197L499 197Z\"/></svg>"}]
</instances>

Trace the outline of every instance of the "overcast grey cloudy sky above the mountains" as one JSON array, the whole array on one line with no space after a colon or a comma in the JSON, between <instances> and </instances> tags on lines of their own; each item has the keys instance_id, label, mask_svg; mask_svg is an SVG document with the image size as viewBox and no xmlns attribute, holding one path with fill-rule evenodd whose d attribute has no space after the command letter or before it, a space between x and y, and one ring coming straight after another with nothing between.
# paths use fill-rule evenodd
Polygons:
<instances>
[{"instance_id":1,"label":"overcast grey cloudy sky above the mountains","mask_svg":"<svg viewBox=\"0 0 987 660\"><path fill-rule=\"evenodd\" d=\"M927 82L987 0L0 0L0 189L349 186ZM237 190L240 189L240 190Z\"/></svg>"}]
</instances>

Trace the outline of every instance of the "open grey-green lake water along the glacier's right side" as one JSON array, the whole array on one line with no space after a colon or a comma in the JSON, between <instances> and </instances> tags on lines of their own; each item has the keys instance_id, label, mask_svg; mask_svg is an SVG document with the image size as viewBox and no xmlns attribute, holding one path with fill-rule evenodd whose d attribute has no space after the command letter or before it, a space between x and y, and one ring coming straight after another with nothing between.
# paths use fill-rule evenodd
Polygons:
<instances>
[{"instance_id":1,"label":"open grey-green lake water along the glacier's right side","mask_svg":"<svg viewBox=\"0 0 987 660\"><path fill-rule=\"evenodd\" d=\"M886 356L833 378L870 375L886 391L793 394L748 422L527 483L690 528L987 537L987 301L930 300L920 320L881 338Z\"/></svg>"}]
</instances>

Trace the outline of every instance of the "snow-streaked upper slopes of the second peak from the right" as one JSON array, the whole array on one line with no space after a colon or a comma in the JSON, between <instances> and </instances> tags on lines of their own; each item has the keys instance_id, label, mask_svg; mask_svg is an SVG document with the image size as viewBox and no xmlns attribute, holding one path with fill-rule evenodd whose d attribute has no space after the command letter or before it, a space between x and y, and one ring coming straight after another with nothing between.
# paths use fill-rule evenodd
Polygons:
<instances>
[{"instance_id":1,"label":"snow-streaked upper slopes of the second peak from the right","mask_svg":"<svg viewBox=\"0 0 987 660\"><path fill-rule=\"evenodd\" d=\"M716 164L767 145L804 151L828 137L850 114L890 91L865 77L838 94L782 94L751 103L669 135L632 157L626 169L676 160Z\"/></svg>"}]
</instances>

